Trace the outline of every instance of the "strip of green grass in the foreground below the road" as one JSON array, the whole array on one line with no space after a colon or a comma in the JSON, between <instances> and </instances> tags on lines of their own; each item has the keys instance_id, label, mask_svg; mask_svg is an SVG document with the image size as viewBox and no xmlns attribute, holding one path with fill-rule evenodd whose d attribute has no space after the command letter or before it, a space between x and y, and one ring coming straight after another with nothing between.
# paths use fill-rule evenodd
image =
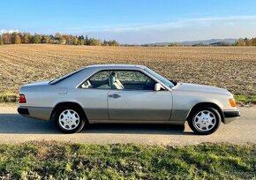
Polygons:
<instances>
[{"instance_id":1,"label":"strip of green grass in the foreground below the road","mask_svg":"<svg viewBox=\"0 0 256 180\"><path fill-rule=\"evenodd\" d=\"M256 145L0 145L0 176L23 179L252 179Z\"/></svg>"}]
</instances>

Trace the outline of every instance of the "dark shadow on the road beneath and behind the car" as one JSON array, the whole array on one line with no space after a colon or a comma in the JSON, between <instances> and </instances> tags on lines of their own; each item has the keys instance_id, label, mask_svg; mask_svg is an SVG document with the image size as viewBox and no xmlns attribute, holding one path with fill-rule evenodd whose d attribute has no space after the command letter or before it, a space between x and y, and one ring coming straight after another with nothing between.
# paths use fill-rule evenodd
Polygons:
<instances>
[{"instance_id":1,"label":"dark shadow on the road beneath and behind the car","mask_svg":"<svg viewBox=\"0 0 256 180\"><path fill-rule=\"evenodd\" d=\"M41 121L18 114L0 114L0 134L60 134L52 121ZM193 135L184 126L169 124L89 124L79 133L179 134Z\"/></svg>"}]
</instances>

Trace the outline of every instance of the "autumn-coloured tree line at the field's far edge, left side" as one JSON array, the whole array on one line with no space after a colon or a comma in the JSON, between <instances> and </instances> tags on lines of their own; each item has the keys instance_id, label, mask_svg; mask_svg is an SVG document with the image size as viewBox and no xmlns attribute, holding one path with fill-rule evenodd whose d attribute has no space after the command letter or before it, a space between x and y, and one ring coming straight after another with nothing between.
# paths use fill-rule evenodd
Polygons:
<instances>
[{"instance_id":1,"label":"autumn-coloured tree line at the field's far edge, left side","mask_svg":"<svg viewBox=\"0 0 256 180\"><path fill-rule=\"evenodd\" d=\"M101 41L95 38L88 38L87 35L71 35L59 34L45 35L45 34L29 34L29 33L6 33L0 34L0 45L4 44L29 44L29 43L48 43L48 44L69 44L69 45L87 45L87 46L119 46L119 42Z\"/></svg>"}]
</instances>

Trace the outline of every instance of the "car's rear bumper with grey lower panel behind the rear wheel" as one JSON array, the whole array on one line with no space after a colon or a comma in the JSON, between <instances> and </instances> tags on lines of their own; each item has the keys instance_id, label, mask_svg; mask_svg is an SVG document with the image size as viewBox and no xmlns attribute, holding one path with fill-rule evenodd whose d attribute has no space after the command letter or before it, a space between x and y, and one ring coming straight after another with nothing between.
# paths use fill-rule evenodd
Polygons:
<instances>
[{"instance_id":1,"label":"car's rear bumper with grey lower panel behind the rear wheel","mask_svg":"<svg viewBox=\"0 0 256 180\"><path fill-rule=\"evenodd\" d=\"M41 120L49 120L52 112L52 108L47 107L20 106L17 110L21 116L27 116Z\"/></svg>"}]
</instances>

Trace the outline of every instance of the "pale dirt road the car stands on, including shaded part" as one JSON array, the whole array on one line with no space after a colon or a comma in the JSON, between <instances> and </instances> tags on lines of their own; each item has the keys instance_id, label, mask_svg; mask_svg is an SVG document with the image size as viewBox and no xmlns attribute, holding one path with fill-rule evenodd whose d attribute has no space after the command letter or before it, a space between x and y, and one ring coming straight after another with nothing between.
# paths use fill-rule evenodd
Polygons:
<instances>
[{"instance_id":1,"label":"pale dirt road the car stands on, including shaded part","mask_svg":"<svg viewBox=\"0 0 256 180\"><path fill-rule=\"evenodd\" d=\"M141 143L149 145L194 145L201 142L256 143L256 106L239 108L241 117L231 124L221 124L208 136L194 135L185 124L170 125L97 124L77 133L61 134L52 122L19 116L15 106L0 104L0 143L31 140L58 140L96 144Z\"/></svg>"}]
</instances>

